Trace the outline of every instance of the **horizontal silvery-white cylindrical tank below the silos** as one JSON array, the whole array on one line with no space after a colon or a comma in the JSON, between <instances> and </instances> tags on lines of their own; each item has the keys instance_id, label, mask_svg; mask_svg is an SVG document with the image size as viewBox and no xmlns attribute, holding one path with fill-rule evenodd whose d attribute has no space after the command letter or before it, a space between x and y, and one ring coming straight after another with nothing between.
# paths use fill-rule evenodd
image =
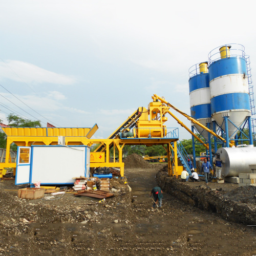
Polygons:
<instances>
[{"instance_id":1,"label":"horizontal silvery-white cylindrical tank below the silos","mask_svg":"<svg viewBox=\"0 0 256 256\"><path fill-rule=\"evenodd\" d=\"M221 147L217 151L217 160L221 160L222 177L238 177L251 173L250 164L256 164L256 147Z\"/></svg>"}]
</instances>

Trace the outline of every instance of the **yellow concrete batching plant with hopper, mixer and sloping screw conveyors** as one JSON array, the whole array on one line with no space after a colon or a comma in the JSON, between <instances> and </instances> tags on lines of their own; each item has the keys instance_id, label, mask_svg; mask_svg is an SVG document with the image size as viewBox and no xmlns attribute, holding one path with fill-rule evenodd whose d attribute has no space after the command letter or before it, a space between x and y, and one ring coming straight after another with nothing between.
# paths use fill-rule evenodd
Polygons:
<instances>
[{"instance_id":1,"label":"yellow concrete batching plant with hopper, mixer and sloping screw conveyors","mask_svg":"<svg viewBox=\"0 0 256 256\"><path fill-rule=\"evenodd\" d=\"M88 145L99 144L95 153L104 153L103 155L92 154L90 167L119 167L121 176L124 176L124 163L122 162L122 148L125 144L130 145L163 145L168 159L168 175L178 176L183 169L178 166L177 141L179 140L178 128L168 131L164 122L167 121L166 114L171 115L177 122L197 138L201 143L203 141L196 134L190 131L169 108L173 108L191 122L202 126L206 131L219 139L224 140L207 127L198 123L195 119L176 109L172 104L167 102L163 97L158 95L152 96L153 101L148 104L148 108L140 107L131 116L129 116L107 139L91 139L97 131L98 126L95 124L92 128L56 128L56 127L2 127L7 134L6 160L0 163L0 178L5 174L5 168L15 167L16 163L10 159L10 145L15 143L17 146L31 145L57 145L58 136L65 137L65 145ZM208 145L204 144L207 148ZM119 160L110 162L110 149L114 147L114 156L118 151ZM98 159L98 160L97 160ZM172 159L172 162L171 162Z\"/></svg>"}]
</instances>

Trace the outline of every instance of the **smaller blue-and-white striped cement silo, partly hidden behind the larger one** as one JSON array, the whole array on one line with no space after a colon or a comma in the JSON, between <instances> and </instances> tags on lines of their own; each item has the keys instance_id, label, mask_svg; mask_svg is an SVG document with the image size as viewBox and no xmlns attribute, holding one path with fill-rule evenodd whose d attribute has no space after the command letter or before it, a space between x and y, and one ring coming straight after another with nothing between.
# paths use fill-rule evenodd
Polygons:
<instances>
[{"instance_id":1,"label":"smaller blue-and-white striped cement silo, partly hidden behind the larger one","mask_svg":"<svg viewBox=\"0 0 256 256\"><path fill-rule=\"evenodd\" d=\"M189 77L190 116L197 119L204 126L210 123L210 129L212 130L207 62L192 66L189 69ZM194 125L204 139L208 141L207 131L197 124L192 123L191 125Z\"/></svg>"}]
</instances>

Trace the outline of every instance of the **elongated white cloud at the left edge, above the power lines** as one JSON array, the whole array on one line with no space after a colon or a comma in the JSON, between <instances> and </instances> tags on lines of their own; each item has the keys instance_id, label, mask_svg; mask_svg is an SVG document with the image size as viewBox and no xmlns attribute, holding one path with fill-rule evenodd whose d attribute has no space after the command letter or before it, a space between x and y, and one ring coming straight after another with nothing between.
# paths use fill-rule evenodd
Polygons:
<instances>
[{"instance_id":1,"label":"elongated white cloud at the left edge, above the power lines","mask_svg":"<svg viewBox=\"0 0 256 256\"><path fill-rule=\"evenodd\" d=\"M19 60L0 61L0 74L2 78L9 78L14 81L22 79L25 82L34 84L49 82L69 85L76 82L74 77L57 74Z\"/></svg>"}]
</instances>

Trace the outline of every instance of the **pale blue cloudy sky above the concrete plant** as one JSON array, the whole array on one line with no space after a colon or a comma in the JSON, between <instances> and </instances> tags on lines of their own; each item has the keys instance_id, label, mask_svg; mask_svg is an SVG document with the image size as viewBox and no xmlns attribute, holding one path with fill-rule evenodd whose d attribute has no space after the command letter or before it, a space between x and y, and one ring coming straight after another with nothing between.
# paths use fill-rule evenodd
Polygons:
<instances>
[{"instance_id":1,"label":"pale blue cloudy sky above the concrete plant","mask_svg":"<svg viewBox=\"0 0 256 256\"><path fill-rule=\"evenodd\" d=\"M256 81L255 7L254 0L0 0L0 119L97 123L95 138L107 138L153 94L189 114L188 69L216 47L242 44ZM166 125L178 127L170 116Z\"/></svg>"}]
</instances>

